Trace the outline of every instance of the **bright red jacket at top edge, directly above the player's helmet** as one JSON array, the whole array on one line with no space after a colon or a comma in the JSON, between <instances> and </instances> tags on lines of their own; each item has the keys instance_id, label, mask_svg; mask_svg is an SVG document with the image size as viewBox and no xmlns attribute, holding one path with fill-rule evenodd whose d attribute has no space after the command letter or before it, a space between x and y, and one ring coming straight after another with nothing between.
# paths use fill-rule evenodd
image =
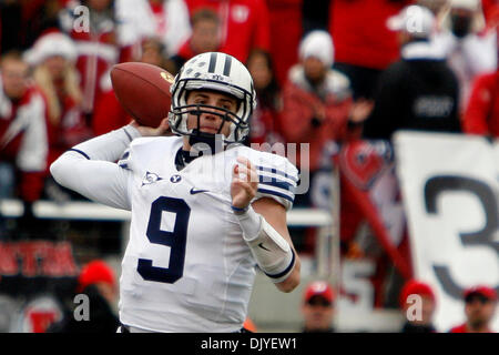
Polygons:
<instances>
[{"instance_id":1,"label":"bright red jacket at top edge, directly above the player's helmet","mask_svg":"<svg viewBox=\"0 0 499 355\"><path fill-rule=\"evenodd\" d=\"M190 13L211 8L221 18L222 52L245 63L252 49L271 48L265 0L186 0Z\"/></svg>"}]
</instances>

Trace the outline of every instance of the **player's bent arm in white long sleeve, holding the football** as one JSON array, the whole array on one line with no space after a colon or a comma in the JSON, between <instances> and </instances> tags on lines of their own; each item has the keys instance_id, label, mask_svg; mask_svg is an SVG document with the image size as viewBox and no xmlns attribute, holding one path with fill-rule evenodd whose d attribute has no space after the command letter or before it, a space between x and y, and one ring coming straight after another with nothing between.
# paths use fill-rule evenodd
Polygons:
<instances>
[{"instance_id":1,"label":"player's bent arm in white long sleeve, holding the football","mask_svg":"<svg viewBox=\"0 0 499 355\"><path fill-rule=\"evenodd\" d=\"M132 172L115 162L123 156L133 139L161 135L166 130L165 120L157 129L139 126L133 122L73 146L52 163L50 172L59 184L92 201L130 210Z\"/></svg>"}]
</instances>

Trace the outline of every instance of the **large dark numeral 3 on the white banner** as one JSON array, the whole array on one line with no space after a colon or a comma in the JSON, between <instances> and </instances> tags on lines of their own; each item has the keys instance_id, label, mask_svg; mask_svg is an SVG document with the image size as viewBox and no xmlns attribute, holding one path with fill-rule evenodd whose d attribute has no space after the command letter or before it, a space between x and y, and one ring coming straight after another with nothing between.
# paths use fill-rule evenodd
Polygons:
<instances>
[{"instance_id":1,"label":"large dark numeral 3 on the white banner","mask_svg":"<svg viewBox=\"0 0 499 355\"><path fill-rule=\"evenodd\" d=\"M485 211L485 226L480 231L460 233L459 237L464 246L483 245L491 247L499 254L499 242L493 240L499 226L498 204L496 192L482 181L465 176L435 176L425 185L425 203L428 213L437 213L437 199L445 191L466 191L478 197ZM455 298L461 298L462 290L450 276L447 266L434 265L435 273L447 294Z\"/></svg>"}]
</instances>

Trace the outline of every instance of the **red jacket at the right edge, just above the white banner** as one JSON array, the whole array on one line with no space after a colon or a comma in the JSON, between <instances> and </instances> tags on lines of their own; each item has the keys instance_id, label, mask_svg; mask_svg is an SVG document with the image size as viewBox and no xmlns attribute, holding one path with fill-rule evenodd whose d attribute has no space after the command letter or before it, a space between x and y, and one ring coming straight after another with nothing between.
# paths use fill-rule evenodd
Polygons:
<instances>
[{"instance_id":1,"label":"red jacket at the right edge, just above the white banner","mask_svg":"<svg viewBox=\"0 0 499 355\"><path fill-rule=\"evenodd\" d=\"M499 136L499 72L479 75L462 121L465 133Z\"/></svg>"}]
</instances>

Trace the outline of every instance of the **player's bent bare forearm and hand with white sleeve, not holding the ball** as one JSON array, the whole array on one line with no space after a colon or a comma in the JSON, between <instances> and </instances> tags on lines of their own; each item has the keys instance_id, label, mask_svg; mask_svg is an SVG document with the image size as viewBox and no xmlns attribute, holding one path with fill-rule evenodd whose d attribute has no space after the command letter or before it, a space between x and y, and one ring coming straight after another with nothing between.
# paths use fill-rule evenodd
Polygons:
<instances>
[{"instance_id":1,"label":"player's bent bare forearm and hand with white sleeve, not holding the ball","mask_svg":"<svg viewBox=\"0 0 499 355\"><path fill-rule=\"evenodd\" d=\"M231 184L232 209L240 221L244 241L261 270L282 292L292 292L299 284L299 257L293 246L286 209L273 199L261 197L252 203L258 189L255 166L238 158Z\"/></svg>"}]
</instances>

